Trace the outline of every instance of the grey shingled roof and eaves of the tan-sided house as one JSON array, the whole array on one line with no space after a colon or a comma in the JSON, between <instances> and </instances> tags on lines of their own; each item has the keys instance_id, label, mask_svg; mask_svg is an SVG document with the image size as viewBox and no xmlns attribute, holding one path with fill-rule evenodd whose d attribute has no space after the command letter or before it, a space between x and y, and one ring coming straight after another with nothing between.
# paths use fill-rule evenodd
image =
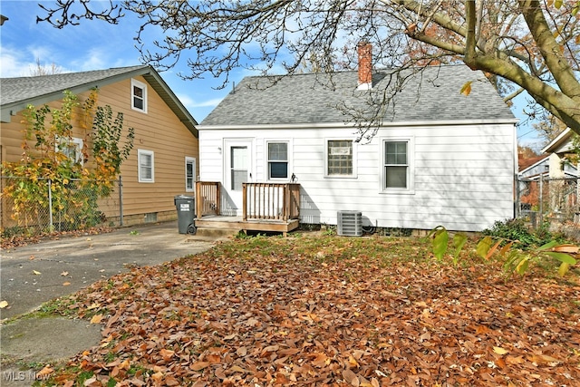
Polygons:
<instances>
[{"instance_id":1,"label":"grey shingled roof and eaves of the tan-sided house","mask_svg":"<svg viewBox=\"0 0 580 387\"><path fill-rule=\"evenodd\" d=\"M61 100L63 92L74 94L86 92L94 87L120 82L127 78L142 75L151 88L167 103L179 120L198 137L197 121L179 101L160 74L151 66L139 65L118 67L106 70L94 70L82 73L59 73L19 78L0 79L0 121L9 122L10 116L22 111L27 105L39 106L43 103Z\"/></svg>"}]
</instances>

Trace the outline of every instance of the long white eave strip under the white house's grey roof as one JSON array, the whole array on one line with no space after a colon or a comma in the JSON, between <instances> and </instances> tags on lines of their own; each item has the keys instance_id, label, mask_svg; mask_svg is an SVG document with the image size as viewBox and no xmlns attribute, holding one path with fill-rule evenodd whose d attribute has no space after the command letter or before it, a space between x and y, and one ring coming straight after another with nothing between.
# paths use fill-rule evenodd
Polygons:
<instances>
[{"instance_id":1,"label":"long white eave strip under the white house's grey roof","mask_svg":"<svg viewBox=\"0 0 580 387\"><path fill-rule=\"evenodd\" d=\"M400 127L416 127L416 126L458 126L458 125L493 125L493 124L507 124L515 125L517 119L511 120L477 120L477 121L394 121L383 122L381 128L400 128ZM225 131L225 130L289 130L289 129L326 129L326 128L360 128L360 127L374 127L372 123L357 124L354 122L324 122L324 123L273 123L273 124L240 124L240 125L198 125L198 131Z\"/></svg>"}]
</instances>

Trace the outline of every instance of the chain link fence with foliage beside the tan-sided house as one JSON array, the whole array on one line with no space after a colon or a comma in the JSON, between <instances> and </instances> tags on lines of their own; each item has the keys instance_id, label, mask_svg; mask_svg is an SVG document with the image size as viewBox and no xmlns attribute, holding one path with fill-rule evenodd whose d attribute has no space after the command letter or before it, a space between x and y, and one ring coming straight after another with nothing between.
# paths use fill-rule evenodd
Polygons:
<instances>
[{"instance_id":1,"label":"chain link fence with foliage beside the tan-sided house","mask_svg":"<svg viewBox=\"0 0 580 387\"><path fill-rule=\"evenodd\" d=\"M3 237L122 225L122 180L0 177Z\"/></svg>"}]
</instances>

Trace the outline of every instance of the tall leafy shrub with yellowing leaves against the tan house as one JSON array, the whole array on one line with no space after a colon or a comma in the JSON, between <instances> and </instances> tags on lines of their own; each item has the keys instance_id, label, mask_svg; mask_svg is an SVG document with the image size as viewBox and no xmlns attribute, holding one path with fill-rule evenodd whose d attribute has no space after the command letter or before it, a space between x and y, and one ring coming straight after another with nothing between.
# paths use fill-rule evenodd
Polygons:
<instances>
[{"instance_id":1,"label":"tall leafy shrub with yellowing leaves against the tan house","mask_svg":"<svg viewBox=\"0 0 580 387\"><path fill-rule=\"evenodd\" d=\"M49 211L49 189L53 215L60 222L90 227L102 221L97 200L111 194L112 180L131 152L134 132L128 130L120 149L122 113L113 121L110 106L97 106L97 95L93 90L81 102L67 91L60 109L29 105L24 111L22 159L2 164L3 174L14 178L3 196L13 199L13 218L21 226L42 224L41 214ZM84 137L80 149L73 141L73 123ZM92 152L87 145L91 138ZM84 168L91 158L96 168Z\"/></svg>"}]
</instances>

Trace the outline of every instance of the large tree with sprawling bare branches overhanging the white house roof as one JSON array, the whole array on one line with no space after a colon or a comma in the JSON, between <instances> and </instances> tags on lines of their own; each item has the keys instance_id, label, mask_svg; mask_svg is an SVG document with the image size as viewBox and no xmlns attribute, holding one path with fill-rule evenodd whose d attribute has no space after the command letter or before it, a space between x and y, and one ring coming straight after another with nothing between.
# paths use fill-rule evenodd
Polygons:
<instances>
[{"instance_id":1,"label":"large tree with sprawling bare branches overhanging the white house roof","mask_svg":"<svg viewBox=\"0 0 580 387\"><path fill-rule=\"evenodd\" d=\"M288 73L300 71L312 53L324 70L335 68L334 54L353 63L344 47L361 41L373 45L384 67L463 62L488 74L507 100L525 91L580 133L578 1L124 0L103 7L59 0L40 6L37 20L58 28L93 18L117 24L133 13L142 20L136 39L144 62L167 69L189 57L184 78L221 76L223 86L238 67L268 72L283 64ZM148 29L164 39L144 42ZM477 83L466 86L468 93Z\"/></svg>"}]
</instances>

